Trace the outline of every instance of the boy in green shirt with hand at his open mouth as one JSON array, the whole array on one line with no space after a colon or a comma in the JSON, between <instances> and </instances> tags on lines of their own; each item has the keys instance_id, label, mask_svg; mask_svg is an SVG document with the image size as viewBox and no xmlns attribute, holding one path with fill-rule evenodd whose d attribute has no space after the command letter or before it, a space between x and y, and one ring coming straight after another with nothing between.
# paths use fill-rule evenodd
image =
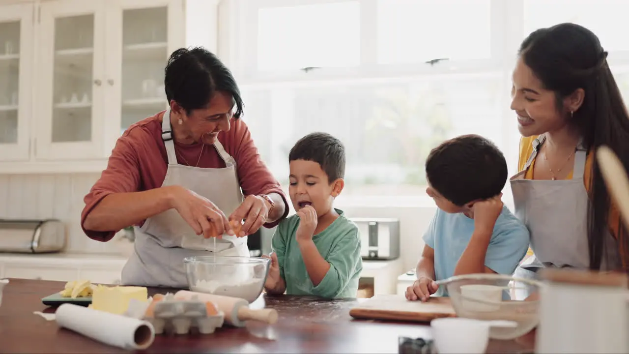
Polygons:
<instances>
[{"instance_id":1,"label":"boy in green shirt with hand at his open mouth","mask_svg":"<svg viewBox=\"0 0 629 354\"><path fill-rule=\"evenodd\" d=\"M332 207L343 190L345 147L326 133L299 139L288 155L292 207L273 235L267 294L356 297L362 271L358 227Z\"/></svg>"}]
</instances>

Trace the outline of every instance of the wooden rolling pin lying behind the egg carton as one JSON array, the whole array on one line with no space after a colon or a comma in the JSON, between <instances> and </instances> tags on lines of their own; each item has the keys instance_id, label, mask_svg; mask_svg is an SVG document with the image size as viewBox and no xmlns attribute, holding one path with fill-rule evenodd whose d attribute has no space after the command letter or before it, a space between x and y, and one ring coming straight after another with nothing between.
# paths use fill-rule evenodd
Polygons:
<instances>
[{"instance_id":1,"label":"wooden rolling pin lying behind the egg carton","mask_svg":"<svg viewBox=\"0 0 629 354\"><path fill-rule=\"evenodd\" d=\"M219 311L225 312L225 321L232 326L244 327L245 321L248 320L268 324L277 322L277 311L275 309L252 310L249 308L247 300L239 297L205 294L188 290L179 290L175 293L175 299L192 300L192 297L195 296L198 300L213 302Z\"/></svg>"}]
</instances>

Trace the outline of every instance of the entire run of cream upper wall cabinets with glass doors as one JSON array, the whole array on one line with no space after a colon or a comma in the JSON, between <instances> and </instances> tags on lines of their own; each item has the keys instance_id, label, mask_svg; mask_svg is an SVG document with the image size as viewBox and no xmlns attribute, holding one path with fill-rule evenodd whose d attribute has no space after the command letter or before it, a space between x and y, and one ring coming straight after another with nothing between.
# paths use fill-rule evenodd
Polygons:
<instances>
[{"instance_id":1,"label":"entire run of cream upper wall cabinets with glass doors","mask_svg":"<svg viewBox=\"0 0 629 354\"><path fill-rule=\"evenodd\" d=\"M217 17L216 0L0 0L0 172L102 171L166 108L169 55L216 52Z\"/></svg>"}]
</instances>

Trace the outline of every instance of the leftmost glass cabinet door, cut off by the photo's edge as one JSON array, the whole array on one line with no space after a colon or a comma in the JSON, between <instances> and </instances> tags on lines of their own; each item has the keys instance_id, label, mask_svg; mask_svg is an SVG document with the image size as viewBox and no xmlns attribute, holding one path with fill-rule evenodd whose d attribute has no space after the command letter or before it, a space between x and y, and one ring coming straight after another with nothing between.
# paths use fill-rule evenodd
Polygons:
<instances>
[{"instance_id":1,"label":"leftmost glass cabinet door, cut off by the photo's edge","mask_svg":"<svg viewBox=\"0 0 629 354\"><path fill-rule=\"evenodd\" d=\"M5 161L29 157L33 9L17 4L0 11L0 155Z\"/></svg>"}]
</instances>

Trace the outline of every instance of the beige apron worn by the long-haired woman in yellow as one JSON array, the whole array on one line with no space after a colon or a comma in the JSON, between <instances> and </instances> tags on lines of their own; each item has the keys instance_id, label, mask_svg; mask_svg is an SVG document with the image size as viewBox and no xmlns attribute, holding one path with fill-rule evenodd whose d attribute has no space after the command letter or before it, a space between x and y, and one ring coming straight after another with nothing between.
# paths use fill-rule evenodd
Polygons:
<instances>
[{"instance_id":1,"label":"beige apron worn by the long-haired woman in yellow","mask_svg":"<svg viewBox=\"0 0 629 354\"><path fill-rule=\"evenodd\" d=\"M574 154L572 180L526 180L526 170L537 156L545 136L533 140L533 152L523 171L511 177L515 215L531 234L533 256L516 269L516 276L532 278L544 266L589 268L587 247L588 195L583 183L587 152L579 144ZM608 232L601 268L620 264L616 239Z\"/></svg>"}]
</instances>

